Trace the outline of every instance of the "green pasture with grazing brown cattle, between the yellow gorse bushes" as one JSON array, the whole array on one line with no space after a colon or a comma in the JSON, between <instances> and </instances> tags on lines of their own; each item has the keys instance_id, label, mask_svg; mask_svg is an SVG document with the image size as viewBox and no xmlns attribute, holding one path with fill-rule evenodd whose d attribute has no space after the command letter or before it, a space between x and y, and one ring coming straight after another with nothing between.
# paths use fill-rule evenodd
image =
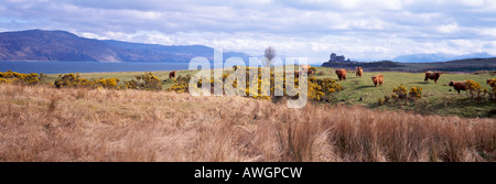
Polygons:
<instances>
[{"instance_id":1,"label":"green pasture with grazing brown cattle, between the yellow gorse bushes","mask_svg":"<svg viewBox=\"0 0 496 184\"><path fill-rule=\"evenodd\" d=\"M317 67L315 77L326 78L331 77L337 79L334 73L334 68ZM196 71L179 71L177 75L195 74ZM323 74L322 74L323 73ZM126 73L83 73L83 78L96 79L96 78L119 78L121 82L131 80L136 75L141 75L142 72L126 72ZM160 79L164 80L163 89L172 86L173 80L168 79L169 72L154 72ZM321 75L322 74L322 75ZM382 74L385 76L384 86L374 87L374 83L370 76ZM54 82L57 78L57 74L47 75L47 82ZM336 99L332 104L343 105L362 105L369 108L379 108L388 110L408 110L418 112L421 115L455 115L460 117L495 117L496 105L494 101L485 100L482 102L475 102L468 99L468 95L462 91L459 95L451 86L448 86L450 80L466 80L472 79L482 85L482 87L490 88L486 84L486 79L494 78L488 74L474 75L474 74L442 74L438 84L430 80L424 83L423 73L399 73L399 72L367 72L364 71L362 78L355 77L354 73L347 74L345 82L339 82L344 86L344 90L338 94ZM422 98L416 102L390 102L385 106L378 106L378 98L382 98L386 95L391 95L391 89L403 85L407 88L421 87ZM451 91L450 91L451 90ZM359 101L362 97L362 101Z\"/></svg>"}]
</instances>

